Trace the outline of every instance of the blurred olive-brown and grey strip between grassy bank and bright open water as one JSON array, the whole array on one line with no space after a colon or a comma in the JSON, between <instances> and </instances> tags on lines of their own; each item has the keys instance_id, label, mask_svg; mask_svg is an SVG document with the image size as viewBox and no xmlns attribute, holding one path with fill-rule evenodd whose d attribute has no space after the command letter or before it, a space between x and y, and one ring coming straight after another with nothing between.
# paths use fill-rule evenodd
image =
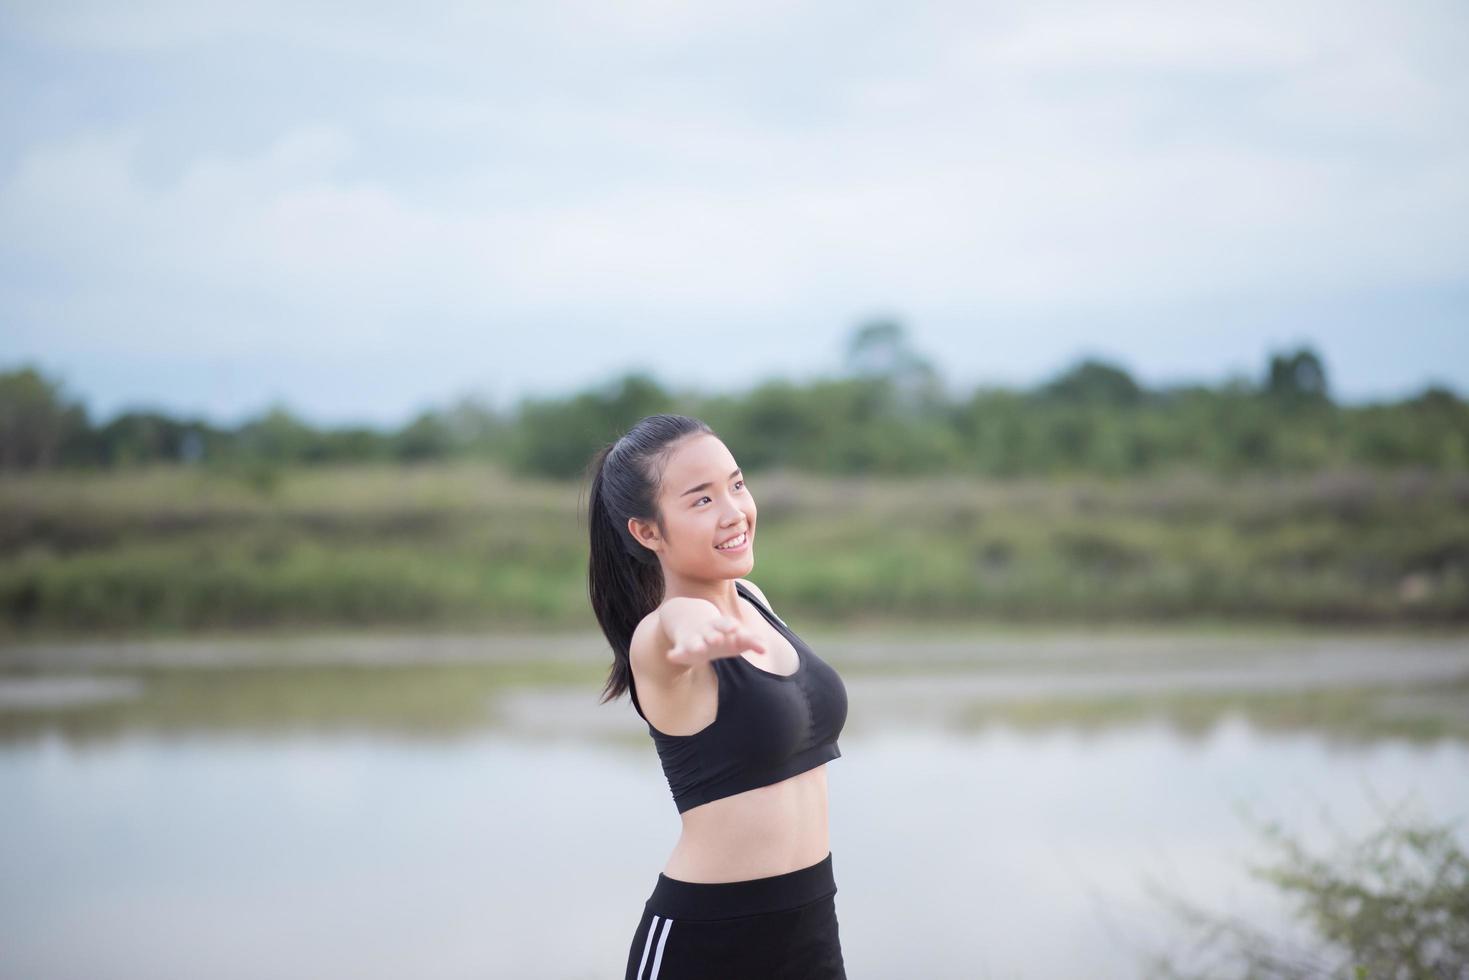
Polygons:
<instances>
[{"instance_id":1,"label":"blurred olive-brown and grey strip between grassy bank and bright open water","mask_svg":"<svg viewBox=\"0 0 1469 980\"><path fill-rule=\"evenodd\" d=\"M852 732L1196 732L1231 716L1347 736L1469 739L1469 636L1011 630L808 635L842 673ZM288 729L646 739L626 695L598 704L596 633L317 635L0 649L0 738Z\"/></svg>"}]
</instances>

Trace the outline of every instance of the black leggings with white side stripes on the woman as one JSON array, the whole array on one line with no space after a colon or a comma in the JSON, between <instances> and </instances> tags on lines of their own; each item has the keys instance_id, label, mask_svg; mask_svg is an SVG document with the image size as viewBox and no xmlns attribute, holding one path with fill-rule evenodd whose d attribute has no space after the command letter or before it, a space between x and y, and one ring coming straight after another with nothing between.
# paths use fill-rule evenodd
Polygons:
<instances>
[{"instance_id":1,"label":"black leggings with white side stripes on the woman","mask_svg":"<svg viewBox=\"0 0 1469 980\"><path fill-rule=\"evenodd\" d=\"M846 980L831 852L743 882L658 874L627 951L626 980Z\"/></svg>"}]
</instances>

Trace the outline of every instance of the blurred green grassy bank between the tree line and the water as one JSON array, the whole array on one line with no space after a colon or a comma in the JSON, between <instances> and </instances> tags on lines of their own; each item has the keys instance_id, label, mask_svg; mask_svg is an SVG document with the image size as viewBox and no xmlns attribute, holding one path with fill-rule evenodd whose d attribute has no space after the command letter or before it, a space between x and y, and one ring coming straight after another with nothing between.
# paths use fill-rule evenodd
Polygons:
<instances>
[{"instance_id":1,"label":"blurred green grassy bank between the tree line and the water","mask_svg":"<svg viewBox=\"0 0 1469 980\"><path fill-rule=\"evenodd\" d=\"M871 448L881 463L893 447L921 451L899 438ZM746 478L761 516L757 580L806 621L1469 616L1463 476L996 480L771 466ZM0 632L580 629L583 489L580 475L454 460L12 475L0 480Z\"/></svg>"}]
</instances>

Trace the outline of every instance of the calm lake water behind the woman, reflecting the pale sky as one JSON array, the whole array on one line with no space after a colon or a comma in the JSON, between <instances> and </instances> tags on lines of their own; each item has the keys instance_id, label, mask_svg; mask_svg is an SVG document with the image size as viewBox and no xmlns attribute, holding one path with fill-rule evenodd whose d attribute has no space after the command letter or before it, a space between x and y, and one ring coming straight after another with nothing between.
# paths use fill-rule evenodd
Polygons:
<instances>
[{"instance_id":1,"label":"calm lake water behind the woman, reflecting the pale sky","mask_svg":"<svg viewBox=\"0 0 1469 980\"><path fill-rule=\"evenodd\" d=\"M1150 883L1303 937L1246 815L1321 851L1394 807L1469 815L1469 645L1149 642L900 673L821 646L853 980L1140 976L1188 936ZM679 818L595 657L150 649L0 660L0 976L621 976Z\"/></svg>"}]
</instances>

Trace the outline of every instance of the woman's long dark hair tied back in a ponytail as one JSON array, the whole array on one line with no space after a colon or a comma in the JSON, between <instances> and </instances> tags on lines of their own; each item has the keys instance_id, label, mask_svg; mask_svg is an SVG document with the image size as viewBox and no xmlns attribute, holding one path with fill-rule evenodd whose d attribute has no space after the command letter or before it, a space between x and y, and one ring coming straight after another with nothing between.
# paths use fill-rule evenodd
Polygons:
<instances>
[{"instance_id":1,"label":"woman's long dark hair tied back in a ponytail","mask_svg":"<svg viewBox=\"0 0 1469 980\"><path fill-rule=\"evenodd\" d=\"M664 530L658 511L663 470L674 444L695 433L714 435L698 419L687 416L648 416L611 445L592 457L588 501L591 557L586 564L586 592L592 613L613 646L613 669L607 676L599 704L627 691L633 671L629 658L633 630L648 613L663 604L663 566L627 529L627 520L651 520Z\"/></svg>"}]
</instances>

